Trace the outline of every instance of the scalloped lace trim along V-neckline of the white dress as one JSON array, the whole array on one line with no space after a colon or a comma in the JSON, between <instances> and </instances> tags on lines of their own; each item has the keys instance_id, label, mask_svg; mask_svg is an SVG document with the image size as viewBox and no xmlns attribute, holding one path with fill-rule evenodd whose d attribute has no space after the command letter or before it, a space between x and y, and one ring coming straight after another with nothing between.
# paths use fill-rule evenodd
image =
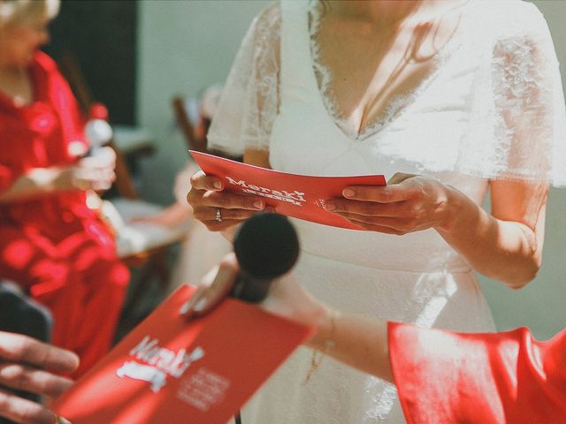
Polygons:
<instances>
[{"instance_id":1,"label":"scalloped lace trim along V-neckline of the white dress","mask_svg":"<svg viewBox=\"0 0 566 424\"><path fill-rule=\"evenodd\" d=\"M464 11L471 3L471 0L459 6L460 22L458 24L458 28L455 29L455 33L452 34L447 42L440 48L435 57L431 59L434 61L432 64L432 70L412 89L394 95L392 99L387 102L378 117L371 123L363 125L363 128L358 132L348 131L347 125L340 125L340 122L344 122L345 119L340 118L343 117L343 114L340 113L338 102L326 95L332 72L327 66L321 64L319 60L318 46L314 41L316 38L315 34L317 32L317 27L321 19L321 16L317 11L317 3L318 2L316 0L309 2L304 19L304 23L306 25L306 37L308 39L307 55L310 59L310 82L311 84L314 84L320 105L324 108L325 116L332 122L333 127L349 141L359 143L378 136L380 133L383 133L389 125L400 120L402 116L404 116L411 107L417 103L418 99L424 95L428 88L432 86L434 80L439 76L442 64L444 64L450 56L450 53L453 52L459 45L457 41L460 40L461 37L459 37L458 34L462 31L464 24ZM317 79L317 72L320 72L322 75L320 83Z\"/></svg>"}]
</instances>

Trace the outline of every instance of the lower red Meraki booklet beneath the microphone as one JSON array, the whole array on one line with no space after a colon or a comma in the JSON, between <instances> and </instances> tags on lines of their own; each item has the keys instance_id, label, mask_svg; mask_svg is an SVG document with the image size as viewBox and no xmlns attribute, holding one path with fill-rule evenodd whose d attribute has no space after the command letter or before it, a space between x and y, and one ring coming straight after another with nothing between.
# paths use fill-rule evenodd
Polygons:
<instances>
[{"instance_id":1,"label":"lower red Meraki booklet beneath the microphone","mask_svg":"<svg viewBox=\"0 0 566 424\"><path fill-rule=\"evenodd\" d=\"M73 424L226 424L310 329L236 299L187 322L182 286L54 411Z\"/></svg>"}]
</instances>

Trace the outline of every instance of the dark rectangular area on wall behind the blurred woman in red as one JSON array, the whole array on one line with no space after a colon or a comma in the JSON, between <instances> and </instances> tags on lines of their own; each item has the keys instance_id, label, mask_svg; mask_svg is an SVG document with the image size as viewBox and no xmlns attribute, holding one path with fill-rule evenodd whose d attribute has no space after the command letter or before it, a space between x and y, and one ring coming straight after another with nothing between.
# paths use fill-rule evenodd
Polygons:
<instances>
[{"instance_id":1,"label":"dark rectangular area on wall behind the blurred woman in red","mask_svg":"<svg viewBox=\"0 0 566 424\"><path fill-rule=\"evenodd\" d=\"M57 61L76 59L115 124L134 124L137 10L129 0L63 0L45 48Z\"/></svg>"}]
</instances>

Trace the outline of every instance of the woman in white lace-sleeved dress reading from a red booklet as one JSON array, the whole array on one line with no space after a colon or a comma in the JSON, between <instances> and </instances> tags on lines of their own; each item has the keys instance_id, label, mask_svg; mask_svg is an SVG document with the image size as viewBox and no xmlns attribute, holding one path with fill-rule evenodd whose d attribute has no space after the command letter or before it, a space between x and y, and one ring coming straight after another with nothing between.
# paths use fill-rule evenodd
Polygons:
<instances>
[{"instance_id":1,"label":"woman in white lace-sleeved dress reading from a red booklet","mask_svg":"<svg viewBox=\"0 0 566 424\"><path fill-rule=\"evenodd\" d=\"M532 4L293 0L250 27L209 142L285 172L392 178L327 203L366 231L294 220L302 253L288 277L344 311L492 331L474 271L511 288L536 275L565 127L554 46ZM210 231L265 207L213 176L191 179L187 200ZM393 385L333 360L305 383L311 356L295 352L242 422L404 422Z\"/></svg>"}]
</instances>

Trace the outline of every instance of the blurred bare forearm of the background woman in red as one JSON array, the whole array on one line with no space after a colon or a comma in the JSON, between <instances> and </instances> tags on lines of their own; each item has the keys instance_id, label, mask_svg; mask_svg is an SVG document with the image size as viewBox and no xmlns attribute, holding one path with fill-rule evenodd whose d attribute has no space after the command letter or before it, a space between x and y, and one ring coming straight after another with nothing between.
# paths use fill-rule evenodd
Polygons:
<instances>
[{"instance_id":1,"label":"blurred bare forearm of the background woman in red","mask_svg":"<svg viewBox=\"0 0 566 424\"><path fill-rule=\"evenodd\" d=\"M61 172L59 168L36 168L29 171L0 193L0 203L24 201L61 190L58 185Z\"/></svg>"}]
</instances>

